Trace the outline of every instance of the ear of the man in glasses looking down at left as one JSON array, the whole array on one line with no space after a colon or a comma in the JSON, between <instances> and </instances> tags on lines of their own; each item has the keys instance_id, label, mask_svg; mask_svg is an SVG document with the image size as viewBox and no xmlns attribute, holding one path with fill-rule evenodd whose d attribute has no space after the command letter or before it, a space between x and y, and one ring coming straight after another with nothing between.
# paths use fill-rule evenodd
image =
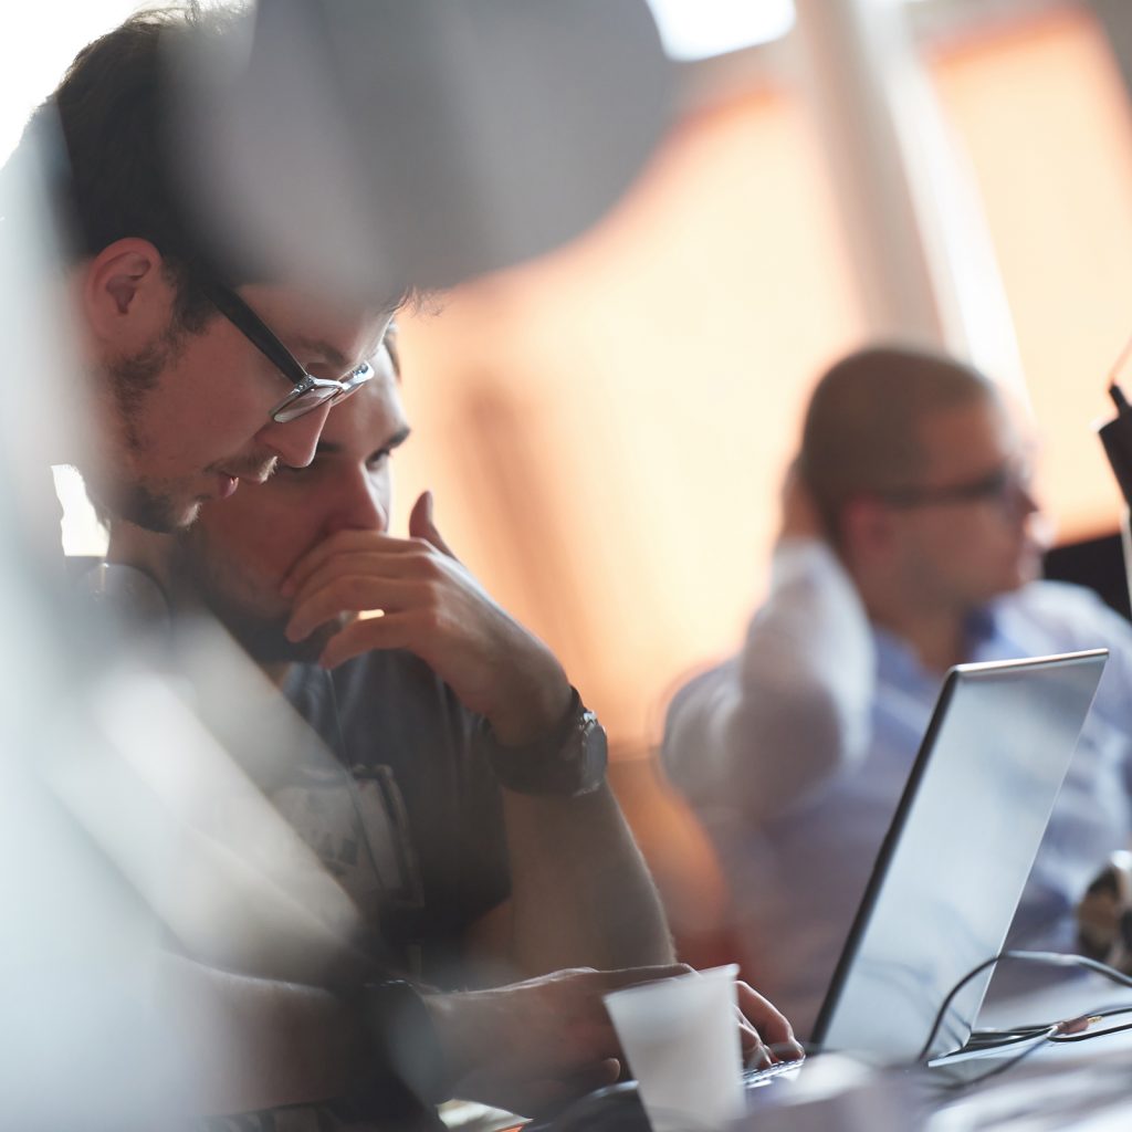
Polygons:
<instances>
[{"instance_id":1,"label":"ear of the man in glasses looking down at left","mask_svg":"<svg viewBox=\"0 0 1132 1132\"><path fill-rule=\"evenodd\" d=\"M148 240L115 240L86 265L82 302L95 340L114 353L140 349L169 326L173 292Z\"/></svg>"}]
</instances>

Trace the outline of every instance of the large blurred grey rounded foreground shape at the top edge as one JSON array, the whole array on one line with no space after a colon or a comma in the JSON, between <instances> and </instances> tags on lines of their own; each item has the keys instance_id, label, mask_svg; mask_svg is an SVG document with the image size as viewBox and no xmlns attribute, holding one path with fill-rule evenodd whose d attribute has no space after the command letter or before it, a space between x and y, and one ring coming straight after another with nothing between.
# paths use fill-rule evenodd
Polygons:
<instances>
[{"instance_id":1,"label":"large blurred grey rounded foreground shape at the top edge","mask_svg":"<svg viewBox=\"0 0 1132 1132\"><path fill-rule=\"evenodd\" d=\"M273 0L181 60L179 179L214 250L362 294L573 239L668 125L644 0Z\"/></svg>"}]
</instances>

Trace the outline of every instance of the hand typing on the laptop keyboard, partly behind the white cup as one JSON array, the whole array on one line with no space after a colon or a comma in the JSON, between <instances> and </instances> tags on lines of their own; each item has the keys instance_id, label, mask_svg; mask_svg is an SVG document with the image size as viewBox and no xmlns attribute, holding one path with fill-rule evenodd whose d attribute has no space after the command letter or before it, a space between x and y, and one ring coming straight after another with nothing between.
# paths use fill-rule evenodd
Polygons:
<instances>
[{"instance_id":1,"label":"hand typing on the laptop keyboard, partly behind the white cup","mask_svg":"<svg viewBox=\"0 0 1132 1132\"><path fill-rule=\"evenodd\" d=\"M623 1053L602 996L691 967L577 968L509 986L426 997L455 1095L524 1115L551 1113L615 1082ZM751 1065L803 1056L790 1023L737 984L739 1037Z\"/></svg>"}]
</instances>

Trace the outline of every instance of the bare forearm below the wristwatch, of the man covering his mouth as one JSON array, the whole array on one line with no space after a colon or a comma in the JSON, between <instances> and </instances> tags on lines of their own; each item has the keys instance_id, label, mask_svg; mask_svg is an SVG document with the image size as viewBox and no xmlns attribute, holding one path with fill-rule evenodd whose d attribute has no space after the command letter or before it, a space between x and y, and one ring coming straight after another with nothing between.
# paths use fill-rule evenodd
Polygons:
<instances>
[{"instance_id":1,"label":"bare forearm below the wristwatch, of the man covering his mouth","mask_svg":"<svg viewBox=\"0 0 1132 1132\"><path fill-rule=\"evenodd\" d=\"M522 972L672 962L660 898L608 784L578 798L505 790L504 815Z\"/></svg>"}]
</instances>

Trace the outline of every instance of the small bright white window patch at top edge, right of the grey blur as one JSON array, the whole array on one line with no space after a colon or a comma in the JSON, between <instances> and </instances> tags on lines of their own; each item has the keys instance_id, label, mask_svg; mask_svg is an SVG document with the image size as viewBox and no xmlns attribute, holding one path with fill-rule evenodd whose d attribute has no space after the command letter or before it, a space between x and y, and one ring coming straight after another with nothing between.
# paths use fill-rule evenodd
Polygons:
<instances>
[{"instance_id":1,"label":"small bright white window patch at top edge, right of the grey blur","mask_svg":"<svg viewBox=\"0 0 1132 1132\"><path fill-rule=\"evenodd\" d=\"M794 27L794 0L649 0L664 50L688 61L781 38Z\"/></svg>"}]
</instances>

